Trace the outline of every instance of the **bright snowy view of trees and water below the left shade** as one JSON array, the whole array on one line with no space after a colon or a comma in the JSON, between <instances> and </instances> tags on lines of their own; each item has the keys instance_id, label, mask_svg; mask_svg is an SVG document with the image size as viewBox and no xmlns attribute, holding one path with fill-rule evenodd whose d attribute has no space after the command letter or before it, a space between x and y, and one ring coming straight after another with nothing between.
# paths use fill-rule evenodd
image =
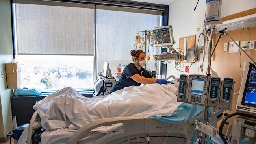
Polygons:
<instances>
[{"instance_id":1,"label":"bright snowy view of trees and water below the left shade","mask_svg":"<svg viewBox=\"0 0 256 144\"><path fill-rule=\"evenodd\" d=\"M55 91L64 87L76 90L93 88L93 56L18 55L22 87Z\"/></svg>"}]
</instances>

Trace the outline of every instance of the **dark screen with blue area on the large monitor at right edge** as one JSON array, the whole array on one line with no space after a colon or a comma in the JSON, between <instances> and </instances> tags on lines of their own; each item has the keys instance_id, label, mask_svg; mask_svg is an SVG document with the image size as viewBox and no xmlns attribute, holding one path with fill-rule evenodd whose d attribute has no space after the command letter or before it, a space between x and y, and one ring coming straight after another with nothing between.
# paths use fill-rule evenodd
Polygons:
<instances>
[{"instance_id":1,"label":"dark screen with blue area on the large monitor at right edge","mask_svg":"<svg viewBox=\"0 0 256 144\"><path fill-rule=\"evenodd\" d=\"M256 107L256 70L254 66L251 66L249 82L247 83L245 88L247 90L244 105Z\"/></svg>"}]
</instances>

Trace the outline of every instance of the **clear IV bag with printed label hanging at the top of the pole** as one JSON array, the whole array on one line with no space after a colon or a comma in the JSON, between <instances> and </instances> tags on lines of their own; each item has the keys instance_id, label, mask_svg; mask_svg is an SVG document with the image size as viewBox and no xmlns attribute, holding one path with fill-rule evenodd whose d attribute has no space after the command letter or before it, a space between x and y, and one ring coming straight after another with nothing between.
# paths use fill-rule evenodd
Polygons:
<instances>
[{"instance_id":1,"label":"clear IV bag with printed label hanging at the top of the pole","mask_svg":"<svg viewBox=\"0 0 256 144\"><path fill-rule=\"evenodd\" d=\"M222 0L206 0L204 26L210 24L222 24L221 3Z\"/></svg>"}]
</instances>

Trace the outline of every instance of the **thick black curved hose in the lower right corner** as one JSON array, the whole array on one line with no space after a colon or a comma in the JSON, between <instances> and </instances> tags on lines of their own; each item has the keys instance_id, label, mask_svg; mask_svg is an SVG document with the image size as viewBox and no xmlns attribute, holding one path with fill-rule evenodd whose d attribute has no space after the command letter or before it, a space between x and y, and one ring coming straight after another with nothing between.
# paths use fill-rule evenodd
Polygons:
<instances>
[{"instance_id":1,"label":"thick black curved hose in the lower right corner","mask_svg":"<svg viewBox=\"0 0 256 144\"><path fill-rule=\"evenodd\" d=\"M244 116L244 117L252 118L252 119L256 120L256 116L252 116L250 114L239 113L239 112L232 113L232 114L229 114L228 116L225 116L225 118L221 122L221 125L219 126L219 136L221 137L221 139L223 140L223 142L225 144L228 144L228 142L226 141L226 138L222 134L223 127L225 125L225 122L228 120L228 118L231 118L231 117L236 116L236 115Z\"/></svg>"}]
</instances>

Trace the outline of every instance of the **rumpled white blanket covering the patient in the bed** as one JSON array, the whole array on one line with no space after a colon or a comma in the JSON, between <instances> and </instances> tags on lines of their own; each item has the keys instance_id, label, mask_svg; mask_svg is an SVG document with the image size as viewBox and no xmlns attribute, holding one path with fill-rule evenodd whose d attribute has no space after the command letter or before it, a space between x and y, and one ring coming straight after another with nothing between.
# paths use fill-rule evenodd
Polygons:
<instances>
[{"instance_id":1,"label":"rumpled white blanket covering the patient in the bed","mask_svg":"<svg viewBox=\"0 0 256 144\"><path fill-rule=\"evenodd\" d=\"M34 109L46 130L69 127L76 130L101 118L122 116L169 116L180 102L174 85L151 84L131 86L105 98L85 98L71 87L54 92L36 102ZM120 127L100 127L93 131L106 133Z\"/></svg>"}]
</instances>

